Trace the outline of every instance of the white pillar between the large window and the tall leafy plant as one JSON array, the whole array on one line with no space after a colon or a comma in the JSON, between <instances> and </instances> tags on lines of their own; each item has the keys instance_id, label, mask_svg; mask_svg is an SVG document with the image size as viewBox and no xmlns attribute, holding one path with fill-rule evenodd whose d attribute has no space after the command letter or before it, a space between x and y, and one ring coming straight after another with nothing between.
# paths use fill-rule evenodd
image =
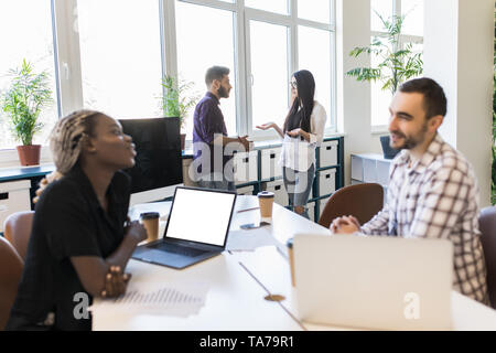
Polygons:
<instances>
[{"instance_id":1,"label":"white pillar between the large window and the tall leafy plant","mask_svg":"<svg viewBox=\"0 0 496 353\"><path fill-rule=\"evenodd\" d=\"M345 136L345 184L351 180L351 153L381 153L378 135L370 133L370 85L346 72L369 65L366 55L349 56L355 46L370 44L370 1L336 1L337 127Z\"/></svg>"}]
</instances>

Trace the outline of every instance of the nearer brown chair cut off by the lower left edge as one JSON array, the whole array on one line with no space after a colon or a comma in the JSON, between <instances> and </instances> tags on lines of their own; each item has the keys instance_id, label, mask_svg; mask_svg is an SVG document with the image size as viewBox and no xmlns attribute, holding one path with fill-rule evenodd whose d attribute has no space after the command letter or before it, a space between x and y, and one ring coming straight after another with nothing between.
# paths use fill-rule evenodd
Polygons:
<instances>
[{"instance_id":1,"label":"nearer brown chair cut off by the lower left edge","mask_svg":"<svg viewBox=\"0 0 496 353\"><path fill-rule=\"evenodd\" d=\"M9 320L23 267L18 252L0 236L0 330L6 328Z\"/></svg>"}]
</instances>

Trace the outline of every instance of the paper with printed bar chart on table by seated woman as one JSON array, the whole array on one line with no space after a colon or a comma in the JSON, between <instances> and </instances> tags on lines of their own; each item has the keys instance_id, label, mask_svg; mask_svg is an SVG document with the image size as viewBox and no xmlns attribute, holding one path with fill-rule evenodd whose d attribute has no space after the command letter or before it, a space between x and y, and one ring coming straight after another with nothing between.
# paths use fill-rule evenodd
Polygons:
<instances>
[{"instance_id":1,"label":"paper with printed bar chart on table by seated woman","mask_svg":"<svg viewBox=\"0 0 496 353\"><path fill-rule=\"evenodd\" d=\"M149 285L131 280L125 296L97 300L90 310L188 317L197 314L205 304L207 290L205 282Z\"/></svg>"}]
</instances>

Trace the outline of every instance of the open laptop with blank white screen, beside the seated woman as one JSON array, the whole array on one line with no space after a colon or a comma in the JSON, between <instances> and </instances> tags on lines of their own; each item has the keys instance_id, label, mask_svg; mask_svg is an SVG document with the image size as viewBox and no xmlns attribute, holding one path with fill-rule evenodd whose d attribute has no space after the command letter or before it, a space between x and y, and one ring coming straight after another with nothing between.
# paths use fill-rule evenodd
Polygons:
<instances>
[{"instance_id":1,"label":"open laptop with blank white screen, beside the seated woman","mask_svg":"<svg viewBox=\"0 0 496 353\"><path fill-rule=\"evenodd\" d=\"M220 254L235 203L235 192L177 186L163 238L139 246L132 258L184 268Z\"/></svg>"}]
</instances>

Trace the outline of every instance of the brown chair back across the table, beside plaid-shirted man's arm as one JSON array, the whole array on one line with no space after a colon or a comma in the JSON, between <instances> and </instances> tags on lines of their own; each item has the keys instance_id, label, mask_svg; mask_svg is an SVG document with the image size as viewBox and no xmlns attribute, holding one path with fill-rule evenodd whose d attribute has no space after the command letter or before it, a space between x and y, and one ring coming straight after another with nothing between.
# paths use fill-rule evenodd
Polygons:
<instances>
[{"instance_id":1,"label":"brown chair back across the table, beside plaid-shirted man's arm","mask_svg":"<svg viewBox=\"0 0 496 353\"><path fill-rule=\"evenodd\" d=\"M337 190L325 204L319 224L328 228L336 217L353 215L360 224L382 210L384 190L376 183L348 185Z\"/></svg>"}]
</instances>

